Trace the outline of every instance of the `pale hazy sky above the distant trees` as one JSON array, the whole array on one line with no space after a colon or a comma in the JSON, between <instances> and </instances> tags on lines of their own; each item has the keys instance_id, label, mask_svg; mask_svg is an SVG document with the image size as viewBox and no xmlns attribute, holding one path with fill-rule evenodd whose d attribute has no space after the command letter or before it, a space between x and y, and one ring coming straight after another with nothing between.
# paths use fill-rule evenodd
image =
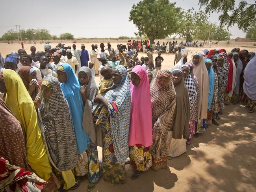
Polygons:
<instances>
[{"instance_id":1,"label":"pale hazy sky above the distant trees","mask_svg":"<svg viewBox=\"0 0 256 192\"><path fill-rule=\"evenodd\" d=\"M199 9L198 0L169 1L183 9ZM137 2L139 0L5 0L0 6L0 36L11 28L16 30L15 25L24 29L46 28L51 35L70 32L74 37L86 38L135 36L137 29L128 18L132 5ZM218 23L218 16L212 14L211 21ZM230 31L232 37L245 37L237 26Z\"/></svg>"}]
</instances>

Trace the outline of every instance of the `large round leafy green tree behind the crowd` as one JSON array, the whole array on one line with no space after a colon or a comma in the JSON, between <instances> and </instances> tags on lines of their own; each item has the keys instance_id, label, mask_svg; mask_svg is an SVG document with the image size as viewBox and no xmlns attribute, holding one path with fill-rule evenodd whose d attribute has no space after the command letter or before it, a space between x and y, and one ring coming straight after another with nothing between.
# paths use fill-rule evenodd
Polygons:
<instances>
[{"instance_id":1,"label":"large round leafy green tree behind the crowd","mask_svg":"<svg viewBox=\"0 0 256 192\"><path fill-rule=\"evenodd\" d=\"M169 0L142 0L132 6L129 21L138 28L135 35L147 35L153 43L177 31L180 10Z\"/></svg>"}]
</instances>

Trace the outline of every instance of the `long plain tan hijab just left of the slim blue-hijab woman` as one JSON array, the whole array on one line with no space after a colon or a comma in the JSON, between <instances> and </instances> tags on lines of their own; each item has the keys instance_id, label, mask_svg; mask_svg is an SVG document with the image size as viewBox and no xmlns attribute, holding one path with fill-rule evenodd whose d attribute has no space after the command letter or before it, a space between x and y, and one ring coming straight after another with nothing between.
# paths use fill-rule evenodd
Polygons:
<instances>
[{"instance_id":1,"label":"long plain tan hijab just left of the slim blue-hijab woman","mask_svg":"<svg viewBox=\"0 0 256 192\"><path fill-rule=\"evenodd\" d=\"M198 64L197 65L194 64L193 71L195 73L195 76L197 77L199 90L200 90L198 94L199 96L198 116L201 120L203 120L207 118L208 100L206 100L205 98L208 98L209 79L208 79L208 71L204 63L204 58L201 54L199 54Z\"/></svg>"}]
</instances>

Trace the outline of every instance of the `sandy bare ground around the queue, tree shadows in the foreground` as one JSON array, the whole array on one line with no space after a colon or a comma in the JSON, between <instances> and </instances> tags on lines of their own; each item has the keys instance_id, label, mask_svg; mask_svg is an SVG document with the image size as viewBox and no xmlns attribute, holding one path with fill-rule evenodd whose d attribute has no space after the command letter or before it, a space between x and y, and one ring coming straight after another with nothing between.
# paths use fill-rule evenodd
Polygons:
<instances>
[{"instance_id":1,"label":"sandy bare ground around the queue, tree shadows in the foreground","mask_svg":"<svg viewBox=\"0 0 256 192\"><path fill-rule=\"evenodd\" d=\"M166 42L166 41L165 41ZM72 42L64 42L72 46ZM82 43L82 42L81 42ZM81 43L76 43L80 48ZM89 51L92 43L85 43ZM121 41L111 42L115 49ZM52 43L52 46L56 45ZM248 46L243 48L241 44ZM25 44L25 49L30 54L30 46ZM219 43L212 48L225 48L229 52L234 47L256 50L251 42L233 42L232 46ZM0 43L0 52L5 57L12 50L21 48L19 44ZM37 50L43 50L43 44L36 44ZM208 48L209 50L211 48ZM202 48L189 48L188 61L195 51ZM145 54L140 53L139 58ZM157 55L154 55L156 57ZM174 54L162 54L164 58L162 68L171 69ZM96 77L96 81L99 79ZM100 179L93 191L98 192L253 192L256 191L256 113L248 113L245 105L226 105L221 120L221 126L211 125L206 132L198 138L193 138L192 144L187 146L187 152L180 157L167 160L169 168L157 172L148 170L143 172L137 180L131 180L134 170L131 165L126 165L127 177L124 185L112 185ZM102 159L101 149L99 156ZM88 185L86 176L78 189L74 192L85 192Z\"/></svg>"}]
</instances>

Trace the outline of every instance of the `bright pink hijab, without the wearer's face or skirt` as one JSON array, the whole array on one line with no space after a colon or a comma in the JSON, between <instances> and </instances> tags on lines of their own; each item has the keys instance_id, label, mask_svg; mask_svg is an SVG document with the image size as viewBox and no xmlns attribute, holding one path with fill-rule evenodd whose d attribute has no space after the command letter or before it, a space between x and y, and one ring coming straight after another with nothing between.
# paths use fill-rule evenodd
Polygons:
<instances>
[{"instance_id":1,"label":"bright pink hijab, without the wearer's face or skirt","mask_svg":"<svg viewBox=\"0 0 256 192\"><path fill-rule=\"evenodd\" d=\"M141 79L139 85L130 82L131 115L128 145L142 144L145 147L152 145L152 114L149 80L146 69L136 65L132 72Z\"/></svg>"}]
</instances>

